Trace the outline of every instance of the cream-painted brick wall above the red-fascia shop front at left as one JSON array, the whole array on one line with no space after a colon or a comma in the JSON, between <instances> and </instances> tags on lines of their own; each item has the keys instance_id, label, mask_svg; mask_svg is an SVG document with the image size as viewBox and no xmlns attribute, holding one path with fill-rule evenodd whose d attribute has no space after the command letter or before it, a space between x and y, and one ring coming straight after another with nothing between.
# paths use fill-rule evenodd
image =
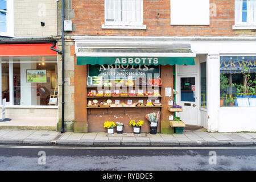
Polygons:
<instances>
[{"instance_id":1,"label":"cream-painted brick wall above the red-fascia shop front at left","mask_svg":"<svg viewBox=\"0 0 256 182\"><path fill-rule=\"evenodd\" d=\"M45 22L42 27L40 22ZM51 36L57 34L57 3L55 0L15 0L15 36Z\"/></svg>"}]
</instances>

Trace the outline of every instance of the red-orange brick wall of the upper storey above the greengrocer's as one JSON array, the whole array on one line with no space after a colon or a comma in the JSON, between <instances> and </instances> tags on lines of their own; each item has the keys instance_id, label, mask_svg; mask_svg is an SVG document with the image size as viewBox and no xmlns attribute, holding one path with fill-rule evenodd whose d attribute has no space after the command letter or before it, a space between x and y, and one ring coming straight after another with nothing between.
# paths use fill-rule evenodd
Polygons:
<instances>
[{"instance_id":1,"label":"red-orange brick wall of the upper storey above the greengrocer's","mask_svg":"<svg viewBox=\"0 0 256 182\"><path fill-rule=\"evenodd\" d=\"M146 30L106 30L104 0L72 0L75 30L73 35L121 36L251 36L255 30L232 30L234 0L210 0L217 6L216 16L210 17L210 26L171 26L170 0L144 0L143 23ZM159 13L159 18L156 16Z\"/></svg>"}]
</instances>

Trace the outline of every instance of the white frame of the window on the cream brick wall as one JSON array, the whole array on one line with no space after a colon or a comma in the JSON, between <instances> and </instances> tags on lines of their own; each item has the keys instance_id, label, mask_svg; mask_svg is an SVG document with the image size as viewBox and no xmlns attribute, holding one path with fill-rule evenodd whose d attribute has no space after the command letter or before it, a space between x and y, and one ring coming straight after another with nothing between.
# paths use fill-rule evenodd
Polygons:
<instances>
[{"instance_id":1,"label":"white frame of the window on the cream brick wall","mask_svg":"<svg viewBox=\"0 0 256 182\"><path fill-rule=\"evenodd\" d=\"M14 37L14 7L13 0L6 0L6 32L0 32L0 36Z\"/></svg>"}]
</instances>

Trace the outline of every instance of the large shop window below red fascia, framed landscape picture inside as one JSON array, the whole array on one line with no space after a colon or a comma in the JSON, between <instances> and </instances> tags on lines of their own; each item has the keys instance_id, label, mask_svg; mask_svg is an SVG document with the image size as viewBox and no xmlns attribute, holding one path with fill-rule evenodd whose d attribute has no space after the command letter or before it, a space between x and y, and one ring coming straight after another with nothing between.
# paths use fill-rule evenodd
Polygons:
<instances>
[{"instance_id":1,"label":"large shop window below red fascia, framed landscape picture inside","mask_svg":"<svg viewBox=\"0 0 256 182\"><path fill-rule=\"evenodd\" d=\"M54 90L57 94L56 56L1 57L1 65L7 105L46 106Z\"/></svg>"}]
</instances>

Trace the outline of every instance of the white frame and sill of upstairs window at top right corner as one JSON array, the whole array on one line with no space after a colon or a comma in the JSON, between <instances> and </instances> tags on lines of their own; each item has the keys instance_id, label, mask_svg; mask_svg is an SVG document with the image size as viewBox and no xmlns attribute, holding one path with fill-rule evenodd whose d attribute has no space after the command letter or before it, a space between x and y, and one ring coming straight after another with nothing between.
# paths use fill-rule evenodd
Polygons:
<instances>
[{"instance_id":1,"label":"white frame and sill of upstairs window at top right corner","mask_svg":"<svg viewBox=\"0 0 256 182\"><path fill-rule=\"evenodd\" d=\"M235 9L234 9L234 15L235 15L235 24L232 27L233 30L249 30L249 29L256 29L256 22L250 23L250 22L236 22L236 1L240 0L234 0L235 2ZM241 1L241 7L242 7L242 1ZM247 7L250 7L250 1L247 0ZM247 16L249 16L250 10L247 9Z\"/></svg>"}]
</instances>

